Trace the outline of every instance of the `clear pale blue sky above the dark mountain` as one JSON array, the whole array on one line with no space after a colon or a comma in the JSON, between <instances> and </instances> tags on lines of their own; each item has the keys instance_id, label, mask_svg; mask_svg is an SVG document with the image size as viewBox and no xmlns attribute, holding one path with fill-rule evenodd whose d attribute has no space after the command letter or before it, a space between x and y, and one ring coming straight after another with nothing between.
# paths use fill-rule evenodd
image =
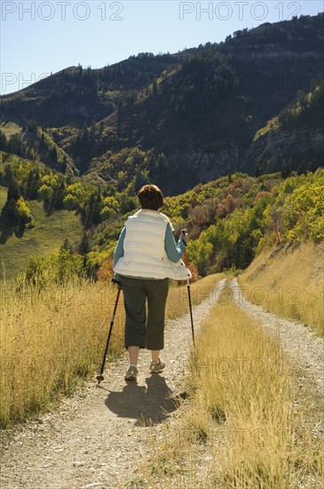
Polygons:
<instances>
[{"instance_id":1,"label":"clear pale blue sky above the dark mountain","mask_svg":"<svg viewBox=\"0 0 324 489\"><path fill-rule=\"evenodd\" d=\"M138 52L178 52L242 28L316 15L324 0L1 0L0 8L1 93L11 93L78 63L102 68Z\"/></svg>"}]
</instances>

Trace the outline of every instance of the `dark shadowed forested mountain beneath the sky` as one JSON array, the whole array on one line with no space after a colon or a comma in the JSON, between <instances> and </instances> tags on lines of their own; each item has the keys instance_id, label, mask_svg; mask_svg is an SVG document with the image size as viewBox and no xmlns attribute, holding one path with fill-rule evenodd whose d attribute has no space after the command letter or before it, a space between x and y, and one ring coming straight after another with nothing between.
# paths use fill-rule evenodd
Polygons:
<instances>
[{"instance_id":1,"label":"dark shadowed forested mountain beneath the sky","mask_svg":"<svg viewBox=\"0 0 324 489\"><path fill-rule=\"evenodd\" d=\"M119 187L158 180L168 195L230 172L321 164L323 20L294 17L183 52L67 68L0 98L2 149L103 187L119 176Z\"/></svg>"}]
</instances>

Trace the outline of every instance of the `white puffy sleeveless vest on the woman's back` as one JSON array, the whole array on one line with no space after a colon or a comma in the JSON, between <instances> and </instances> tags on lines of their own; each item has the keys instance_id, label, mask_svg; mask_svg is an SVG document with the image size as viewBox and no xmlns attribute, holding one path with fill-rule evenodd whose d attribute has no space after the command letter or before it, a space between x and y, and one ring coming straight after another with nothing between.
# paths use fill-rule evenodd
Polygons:
<instances>
[{"instance_id":1,"label":"white puffy sleeveless vest on the woman's back","mask_svg":"<svg viewBox=\"0 0 324 489\"><path fill-rule=\"evenodd\" d=\"M173 263L165 251L165 231L170 220L161 212L140 209L126 220L123 256L114 267L116 274L137 278L192 277L182 260Z\"/></svg>"}]
</instances>

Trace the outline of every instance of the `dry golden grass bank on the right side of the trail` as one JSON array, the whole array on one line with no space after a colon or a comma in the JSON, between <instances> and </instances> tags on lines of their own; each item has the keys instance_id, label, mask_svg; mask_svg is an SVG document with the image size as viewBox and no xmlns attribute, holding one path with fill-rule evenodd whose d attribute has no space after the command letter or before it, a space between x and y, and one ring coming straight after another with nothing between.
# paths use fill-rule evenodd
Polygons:
<instances>
[{"instance_id":1,"label":"dry golden grass bank on the right side of the trail","mask_svg":"<svg viewBox=\"0 0 324 489\"><path fill-rule=\"evenodd\" d=\"M324 335L324 244L261 253L239 282L249 301Z\"/></svg>"}]
</instances>

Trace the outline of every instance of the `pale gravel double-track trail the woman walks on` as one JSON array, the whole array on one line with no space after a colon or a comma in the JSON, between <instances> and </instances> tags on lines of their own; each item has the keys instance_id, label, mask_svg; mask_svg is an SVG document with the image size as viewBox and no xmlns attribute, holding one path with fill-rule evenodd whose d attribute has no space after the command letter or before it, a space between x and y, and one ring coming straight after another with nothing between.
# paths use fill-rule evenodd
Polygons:
<instances>
[{"instance_id":1,"label":"pale gravel double-track trail the woman walks on","mask_svg":"<svg viewBox=\"0 0 324 489\"><path fill-rule=\"evenodd\" d=\"M194 308L195 330L199 329L217 292ZM323 340L302 325L265 313L243 301L239 286L232 282L233 299L270 331L280 330L282 348L310 374L318 392L323 388ZM149 456L148 438L158 437L162 421L177 415L170 399L184 390L187 357L192 346L189 315L168 323L161 374L149 373L149 354L140 352L138 383L125 383L126 355L109 365L105 381L95 381L73 398L63 401L55 413L27 423L4 440L0 487L4 489L117 489L130 486L143 459ZM149 435L149 437L148 437ZM1 441L1 440L0 440Z\"/></svg>"}]
</instances>

